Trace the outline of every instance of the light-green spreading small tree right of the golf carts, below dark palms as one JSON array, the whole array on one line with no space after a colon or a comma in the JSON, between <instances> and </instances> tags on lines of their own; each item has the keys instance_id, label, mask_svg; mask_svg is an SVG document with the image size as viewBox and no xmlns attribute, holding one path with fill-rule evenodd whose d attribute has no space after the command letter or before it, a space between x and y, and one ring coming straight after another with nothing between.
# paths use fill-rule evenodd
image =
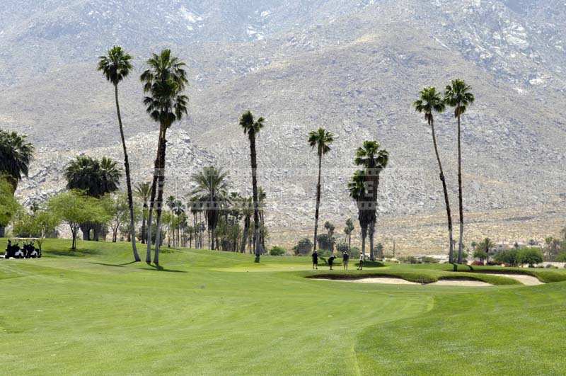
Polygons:
<instances>
[{"instance_id":1,"label":"light-green spreading small tree right of the golf carts, below dark palms","mask_svg":"<svg viewBox=\"0 0 566 376\"><path fill-rule=\"evenodd\" d=\"M70 190L54 196L47 204L49 210L67 223L71 229L71 249L76 250L76 235L81 223L104 223L110 219L100 200L84 195L81 191Z\"/></svg>"}]
</instances>

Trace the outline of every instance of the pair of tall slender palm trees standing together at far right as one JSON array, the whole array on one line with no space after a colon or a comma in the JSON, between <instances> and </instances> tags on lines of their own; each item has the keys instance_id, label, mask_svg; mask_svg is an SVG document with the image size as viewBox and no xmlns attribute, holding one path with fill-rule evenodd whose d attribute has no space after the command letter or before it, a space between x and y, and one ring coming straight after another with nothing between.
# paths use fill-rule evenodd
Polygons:
<instances>
[{"instance_id":1,"label":"pair of tall slender palm trees standing together at far right","mask_svg":"<svg viewBox=\"0 0 566 376\"><path fill-rule=\"evenodd\" d=\"M424 119L432 131L432 144L434 146L434 153L437 158L437 163L440 171L440 181L442 183L442 190L444 191L444 203L446 206L446 216L448 217L448 232L449 232L449 262L457 263L463 262L463 232L464 232L464 217L463 217L463 191L462 191L462 147L461 147L461 118L468 106L475 101L471 87L461 79L454 79L451 84L446 86L444 96L437 91L434 87L427 87L420 91L420 98L413 103L415 110L419 113L424 113ZM454 255L454 234L452 228L452 215L450 209L450 200L448 195L448 188L446 185L446 176L442 168L441 157L439 154L439 147L437 142L436 130L434 128L434 113L443 113L446 106L454 108L454 118L457 123L457 139L458 139L458 209L460 217L460 232L458 237L458 256Z\"/></svg>"}]
</instances>

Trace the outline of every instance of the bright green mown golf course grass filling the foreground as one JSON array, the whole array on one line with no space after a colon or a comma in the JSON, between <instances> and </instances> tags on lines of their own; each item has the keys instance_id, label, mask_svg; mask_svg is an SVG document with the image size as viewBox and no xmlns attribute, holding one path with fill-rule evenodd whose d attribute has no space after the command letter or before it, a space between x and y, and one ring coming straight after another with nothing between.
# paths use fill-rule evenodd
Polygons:
<instances>
[{"instance_id":1,"label":"bright green mown golf course grass filling the foreground","mask_svg":"<svg viewBox=\"0 0 566 376\"><path fill-rule=\"evenodd\" d=\"M395 265L348 275L491 287L305 278L310 258L217 251L130 263L128 244L51 240L44 258L0 260L0 374L560 374L566 270L526 287L481 271ZM0 249L6 241L0 240ZM461 269L463 270L463 269ZM506 269L509 273L509 270ZM540 274L540 275L539 275Z\"/></svg>"}]
</instances>

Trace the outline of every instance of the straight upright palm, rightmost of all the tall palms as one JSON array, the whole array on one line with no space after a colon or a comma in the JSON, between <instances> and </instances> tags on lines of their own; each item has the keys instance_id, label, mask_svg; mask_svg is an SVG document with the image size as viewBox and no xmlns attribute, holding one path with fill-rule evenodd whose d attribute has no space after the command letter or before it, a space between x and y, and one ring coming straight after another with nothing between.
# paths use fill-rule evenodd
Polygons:
<instances>
[{"instance_id":1,"label":"straight upright palm, rightmost of all the tall palms","mask_svg":"<svg viewBox=\"0 0 566 376\"><path fill-rule=\"evenodd\" d=\"M464 210L462 198L462 144L461 144L461 116L466 112L468 106L474 101L472 88L461 79L452 80L444 91L444 102L454 107L454 117L458 120L458 204L460 209L460 239L458 240L458 263L462 263L463 256L463 234L464 234Z\"/></svg>"}]
</instances>

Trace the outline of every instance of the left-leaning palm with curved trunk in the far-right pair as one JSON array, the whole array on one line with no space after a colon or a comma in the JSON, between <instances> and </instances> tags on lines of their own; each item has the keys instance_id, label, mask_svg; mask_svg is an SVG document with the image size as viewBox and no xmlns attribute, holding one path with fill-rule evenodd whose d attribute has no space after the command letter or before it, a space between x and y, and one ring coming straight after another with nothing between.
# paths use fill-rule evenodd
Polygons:
<instances>
[{"instance_id":1,"label":"left-leaning palm with curved trunk in the far-right pair","mask_svg":"<svg viewBox=\"0 0 566 376\"><path fill-rule=\"evenodd\" d=\"M424 120L432 131L432 144L434 146L434 154L437 156L438 168L440 171L440 181L442 183L442 190L444 191L444 205L446 206L446 217L448 218L448 239L449 239L449 263L454 262L454 235L452 230L452 215L450 210L450 200L448 197L448 188L446 188L446 178L444 177L444 169L442 169L442 162L440 160L440 153L438 150L437 134L434 130L434 112L442 113L446 106L440 97L440 93L434 87L424 88L420 92L420 98L412 105L418 113L424 113Z\"/></svg>"}]
</instances>

